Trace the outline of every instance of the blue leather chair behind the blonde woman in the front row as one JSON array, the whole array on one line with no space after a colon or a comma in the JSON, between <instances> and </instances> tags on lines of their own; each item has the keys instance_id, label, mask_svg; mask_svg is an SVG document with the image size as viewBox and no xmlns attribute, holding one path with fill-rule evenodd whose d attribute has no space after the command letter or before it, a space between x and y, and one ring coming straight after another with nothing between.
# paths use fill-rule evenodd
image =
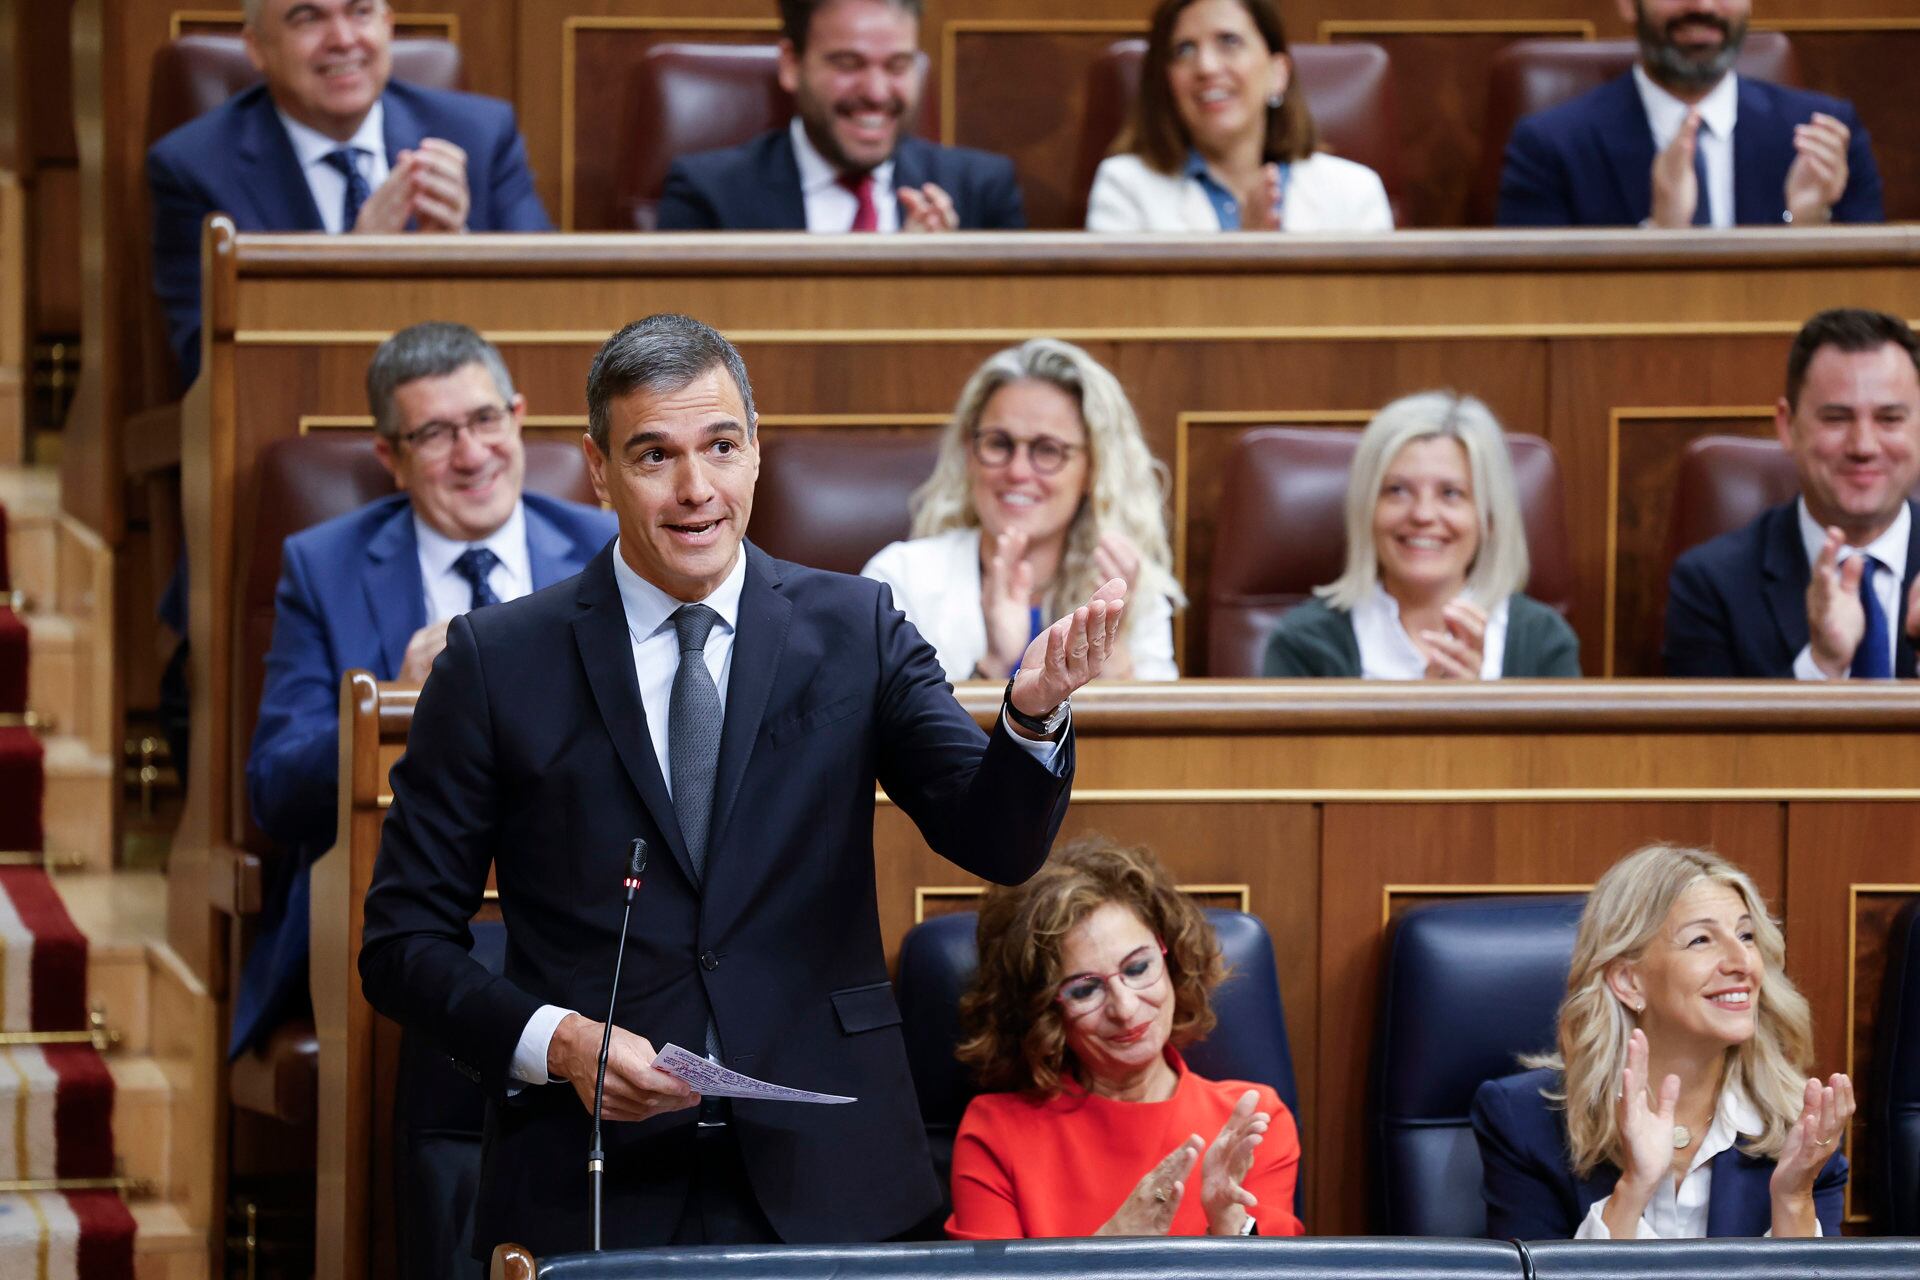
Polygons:
<instances>
[{"instance_id":1,"label":"blue leather chair behind the blonde woman in the front row","mask_svg":"<svg viewBox=\"0 0 1920 1280\"><path fill-rule=\"evenodd\" d=\"M1484 1236L1480 1148L1467 1119L1482 1080L1553 1048L1580 896L1436 902L1386 944L1375 1050L1375 1228Z\"/></svg>"}]
</instances>

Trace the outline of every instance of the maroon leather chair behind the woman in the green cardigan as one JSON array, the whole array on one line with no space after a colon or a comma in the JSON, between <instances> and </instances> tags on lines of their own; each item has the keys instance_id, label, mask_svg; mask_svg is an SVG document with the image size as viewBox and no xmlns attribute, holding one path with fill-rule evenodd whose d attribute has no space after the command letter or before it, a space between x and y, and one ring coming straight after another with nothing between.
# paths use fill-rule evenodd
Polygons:
<instances>
[{"instance_id":1,"label":"maroon leather chair behind the woman in the green cardigan","mask_svg":"<svg viewBox=\"0 0 1920 1280\"><path fill-rule=\"evenodd\" d=\"M1260 676L1267 637L1313 587L1346 568L1346 482L1359 432L1261 426L1227 462L1208 589L1208 676ZM1526 593L1567 614L1572 564L1559 459L1538 436L1507 436L1526 520Z\"/></svg>"}]
</instances>

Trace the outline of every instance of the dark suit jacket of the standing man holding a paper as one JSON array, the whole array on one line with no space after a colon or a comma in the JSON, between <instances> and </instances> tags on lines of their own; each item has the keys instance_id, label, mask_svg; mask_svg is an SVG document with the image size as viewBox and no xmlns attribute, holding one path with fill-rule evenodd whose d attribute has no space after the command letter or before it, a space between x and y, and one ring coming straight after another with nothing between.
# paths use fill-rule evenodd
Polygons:
<instances>
[{"instance_id":1,"label":"dark suit jacket of the standing man holding a paper","mask_svg":"<svg viewBox=\"0 0 1920 1280\"><path fill-rule=\"evenodd\" d=\"M367 894L361 979L490 1090L476 1255L588 1244L589 1117L566 1084L507 1100L541 1004L603 1017L628 842L651 844L616 1021L730 1067L852 1094L839 1107L733 1103L768 1221L789 1242L885 1240L939 1205L887 981L874 889L874 781L958 865L1018 883L1066 814L1054 775L960 710L881 583L747 549L705 885L655 758L612 555L570 583L457 618L394 768ZM1064 748L1071 752L1071 743ZM507 965L468 954L499 885ZM670 1238L691 1111L607 1130L607 1244Z\"/></svg>"}]
</instances>

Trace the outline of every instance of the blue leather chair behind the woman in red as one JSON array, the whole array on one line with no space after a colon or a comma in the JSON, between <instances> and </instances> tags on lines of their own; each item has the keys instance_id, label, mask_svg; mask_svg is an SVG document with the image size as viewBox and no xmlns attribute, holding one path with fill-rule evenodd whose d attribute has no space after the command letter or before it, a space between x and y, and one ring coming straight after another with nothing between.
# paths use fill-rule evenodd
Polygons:
<instances>
[{"instance_id":1,"label":"blue leather chair behind the woman in red","mask_svg":"<svg viewBox=\"0 0 1920 1280\"><path fill-rule=\"evenodd\" d=\"M1200 1044L1185 1050L1187 1063L1215 1080L1267 1084L1300 1115L1294 1055L1286 1044L1286 1009L1273 975L1273 942L1267 927L1244 912L1210 908L1208 923L1219 936L1233 975L1213 992L1219 1025ZM920 1094L920 1117L933 1148L933 1173L945 1196L954 1155L954 1130L977 1092L954 1059L960 1042L960 994L973 981L979 954L973 948L973 912L954 912L914 925L900 942L900 1031L906 1061ZM1294 1186L1294 1213L1304 1203L1304 1184ZM941 1209L947 1219L948 1205Z\"/></svg>"}]
</instances>

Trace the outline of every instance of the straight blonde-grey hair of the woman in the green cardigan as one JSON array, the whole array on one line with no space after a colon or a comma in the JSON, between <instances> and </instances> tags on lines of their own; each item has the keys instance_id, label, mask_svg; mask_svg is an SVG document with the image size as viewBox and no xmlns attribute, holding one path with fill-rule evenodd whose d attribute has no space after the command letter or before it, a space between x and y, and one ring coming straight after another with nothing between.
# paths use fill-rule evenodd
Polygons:
<instances>
[{"instance_id":1,"label":"straight blonde-grey hair of the woman in the green cardigan","mask_svg":"<svg viewBox=\"0 0 1920 1280\"><path fill-rule=\"evenodd\" d=\"M1332 608L1352 610L1380 581L1373 509L1386 468L1417 439L1457 439L1467 451L1473 507L1480 520L1480 549L1467 566L1467 595L1482 608L1494 608L1526 585L1526 522L1500 420L1473 395L1419 391L1377 413L1359 434L1346 482L1346 572L1325 587L1313 587L1313 595Z\"/></svg>"}]
</instances>

